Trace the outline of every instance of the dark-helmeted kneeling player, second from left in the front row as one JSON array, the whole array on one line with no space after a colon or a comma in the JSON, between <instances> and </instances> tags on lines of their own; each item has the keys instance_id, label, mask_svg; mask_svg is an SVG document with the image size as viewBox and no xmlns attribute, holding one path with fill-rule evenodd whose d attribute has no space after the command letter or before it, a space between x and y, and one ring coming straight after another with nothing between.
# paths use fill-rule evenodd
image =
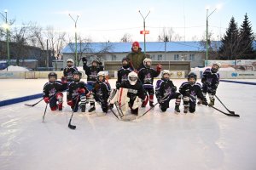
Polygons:
<instances>
[{"instance_id":1,"label":"dark-helmeted kneeling player, second from left in the front row","mask_svg":"<svg viewBox=\"0 0 256 170\"><path fill-rule=\"evenodd\" d=\"M67 105L70 105L74 112L79 111L79 101L81 111L85 112L86 94L89 94L85 82L80 81L81 77L81 72L74 71L73 82L67 88Z\"/></svg>"}]
</instances>

